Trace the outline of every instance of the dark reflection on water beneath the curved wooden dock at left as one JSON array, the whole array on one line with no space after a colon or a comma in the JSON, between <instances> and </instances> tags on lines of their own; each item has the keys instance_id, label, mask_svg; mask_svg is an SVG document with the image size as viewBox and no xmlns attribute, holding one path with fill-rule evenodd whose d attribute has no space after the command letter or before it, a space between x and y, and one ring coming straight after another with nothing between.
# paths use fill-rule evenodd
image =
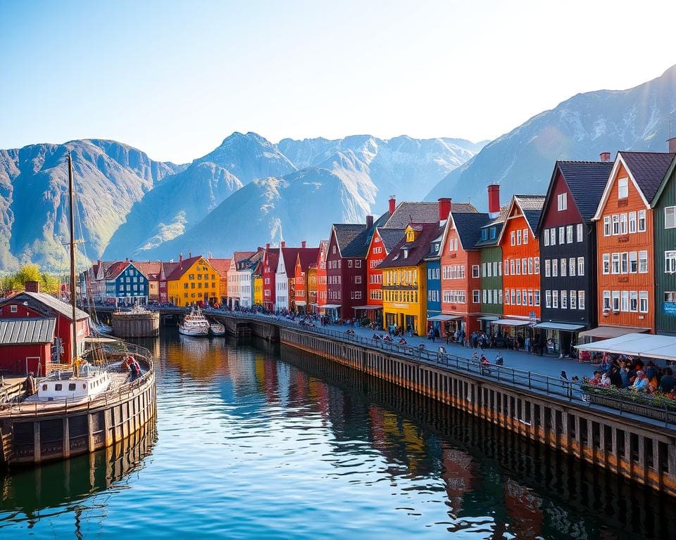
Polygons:
<instances>
[{"instance_id":1,"label":"dark reflection on water beneath the curved wooden dock at left","mask_svg":"<svg viewBox=\"0 0 676 540\"><path fill-rule=\"evenodd\" d=\"M0 473L1 529L18 522L28 527L38 520L77 513L96 506L93 495L123 487L125 479L143 467L157 442L155 423L123 442L93 454ZM75 529L77 536L77 527Z\"/></svg>"}]
</instances>

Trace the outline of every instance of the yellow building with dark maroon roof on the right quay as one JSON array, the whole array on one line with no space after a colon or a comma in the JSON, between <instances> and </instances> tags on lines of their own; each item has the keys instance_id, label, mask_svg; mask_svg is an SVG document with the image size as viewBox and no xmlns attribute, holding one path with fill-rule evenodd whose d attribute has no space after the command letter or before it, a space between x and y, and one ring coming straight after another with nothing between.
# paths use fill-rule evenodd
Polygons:
<instances>
[{"instance_id":1,"label":"yellow building with dark maroon roof on the right quay","mask_svg":"<svg viewBox=\"0 0 676 540\"><path fill-rule=\"evenodd\" d=\"M427 333L427 276L425 257L440 236L439 223L408 224L404 238L380 263L383 328Z\"/></svg>"}]
</instances>

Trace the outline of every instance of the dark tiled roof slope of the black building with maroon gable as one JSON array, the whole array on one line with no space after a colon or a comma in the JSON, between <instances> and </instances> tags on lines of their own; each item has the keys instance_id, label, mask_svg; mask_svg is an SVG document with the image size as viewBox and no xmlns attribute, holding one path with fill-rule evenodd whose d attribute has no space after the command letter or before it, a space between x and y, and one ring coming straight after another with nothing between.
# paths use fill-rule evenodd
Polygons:
<instances>
[{"instance_id":1,"label":"dark tiled roof slope of the black building with maroon gable","mask_svg":"<svg viewBox=\"0 0 676 540\"><path fill-rule=\"evenodd\" d=\"M596 207L599 206L608 177L611 176L613 162L557 161L556 167L568 184L582 219L590 221L596 214Z\"/></svg>"}]
</instances>

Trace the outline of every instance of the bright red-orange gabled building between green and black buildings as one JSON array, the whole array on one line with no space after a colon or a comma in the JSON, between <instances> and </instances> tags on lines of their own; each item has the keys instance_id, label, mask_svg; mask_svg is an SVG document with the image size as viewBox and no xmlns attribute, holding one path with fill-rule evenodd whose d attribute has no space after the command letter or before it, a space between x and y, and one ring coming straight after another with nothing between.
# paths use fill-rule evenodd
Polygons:
<instances>
[{"instance_id":1,"label":"bright red-orange gabled building between green and black buildings","mask_svg":"<svg viewBox=\"0 0 676 540\"><path fill-rule=\"evenodd\" d=\"M502 250L503 319L493 321L496 333L520 338L540 319L540 248L534 230L544 195L514 195L498 245ZM502 327L502 328L497 328Z\"/></svg>"}]
</instances>

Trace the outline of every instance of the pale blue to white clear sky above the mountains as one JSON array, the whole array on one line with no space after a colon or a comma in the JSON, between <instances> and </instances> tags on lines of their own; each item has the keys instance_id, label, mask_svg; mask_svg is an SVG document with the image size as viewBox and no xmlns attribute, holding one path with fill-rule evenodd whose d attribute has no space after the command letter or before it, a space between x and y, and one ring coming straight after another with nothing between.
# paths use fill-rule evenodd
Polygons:
<instances>
[{"instance_id":1,"label":"pale blue to white clear sky above the mountains","mask_svg":"<svg viewBox=\"0 0 676 540\"><path fill-rule=\"evenodd\" d=\"M495 139L676 63L675 1L0 0L0 148Z\"/></svg>"}]
</instances>

